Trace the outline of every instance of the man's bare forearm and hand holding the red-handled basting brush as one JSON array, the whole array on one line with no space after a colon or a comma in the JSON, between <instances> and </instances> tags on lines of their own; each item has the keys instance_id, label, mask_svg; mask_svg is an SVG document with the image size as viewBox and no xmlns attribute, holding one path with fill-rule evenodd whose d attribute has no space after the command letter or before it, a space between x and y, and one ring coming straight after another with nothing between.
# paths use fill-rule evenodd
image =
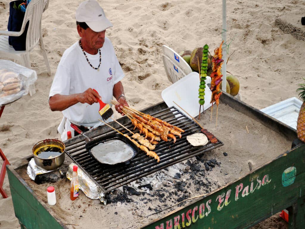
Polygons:
<instances>
[{"instance_id":1,"label":"man's bare forearm and hand holding the red-handled basting brush","mask_svg":"<svg viewBox=\"0 0 305 229\"><path fill-rule=\"evenodd\" d=\"M91 88L88 88L83 93L72 95L55 94L54 96L50 97L49 106L51 111L63 111L77 103L87 103L92 105L98 102L97 98L101 99L101 96Z\"/></svg>"}]
</instances>

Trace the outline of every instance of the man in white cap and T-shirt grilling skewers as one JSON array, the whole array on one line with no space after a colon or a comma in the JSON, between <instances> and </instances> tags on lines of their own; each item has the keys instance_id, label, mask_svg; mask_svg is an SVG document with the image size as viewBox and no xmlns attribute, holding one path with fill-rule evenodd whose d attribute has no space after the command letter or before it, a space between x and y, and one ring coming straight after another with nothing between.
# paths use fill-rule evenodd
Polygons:
<instances>
[{"instance_id":1,"label":"man in white cap and T-shirt grilling skewers","mask_svg":"<svg viewBox=\"0 0 305 229\"><path fill-rule=\"evenodd\" d=\"M85 1L75 18L81 39L63 53L49 93L51 110L62 111L64 116L58 127L63 141L67 131L77 135L71 123L82 131L101 124L98 99L110 103L114 96L120 103L115 108L122 115L123 105L128 106L120 82L124 73L112 43L105 37L112 24L103 9L95 0Z\"/></svg>"}]
</instances>

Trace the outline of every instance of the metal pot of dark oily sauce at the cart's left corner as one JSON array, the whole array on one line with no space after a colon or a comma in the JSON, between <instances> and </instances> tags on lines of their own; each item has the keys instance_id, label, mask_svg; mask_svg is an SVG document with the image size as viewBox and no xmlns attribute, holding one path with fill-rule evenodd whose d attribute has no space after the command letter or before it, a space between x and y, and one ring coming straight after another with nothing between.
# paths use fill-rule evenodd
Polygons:
<instances>
[{"instance_id":1,"label":"metal pot of dark oily sauce at the cart's left corner","mask_svg":"<svg viewBox=\"0 0 305 229\"><path fill-rule=\"evenodd\" d=\"M44 148L47 147L57 147L59 148L61 151L61 154L54 157L54 158L50 158L50 159L43 159L43 158L39 158L37 153L44 151ZM36 165L38 165L39 167L45 169L45 170L54 170L59 168L63 162L65 161L65 144L63 144L62 141L59 141L57 139L45 139L42 140L38 143L36 143L33 148L32 148L32 152L34 155L34 161L36 163Z\"/></svg>"}]
</instances>

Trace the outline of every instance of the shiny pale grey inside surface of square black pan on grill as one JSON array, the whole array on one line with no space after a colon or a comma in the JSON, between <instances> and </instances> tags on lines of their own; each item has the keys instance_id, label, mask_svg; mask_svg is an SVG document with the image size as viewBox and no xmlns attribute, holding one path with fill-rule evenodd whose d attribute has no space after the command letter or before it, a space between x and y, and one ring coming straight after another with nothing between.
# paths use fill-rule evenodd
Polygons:
<instances>
[{"instance_id":1,"label":"shiny pale grey inside surface of square black pan on grill","mask_svg":"<svg viewBox=\"0 0 305 229\"><path fill-rule=\"evenodd\" d=\"M101 163L114 165L131 159L134 149L121 140L109 140L92 147L91 154Z\"/></svg>"}]
</instances>

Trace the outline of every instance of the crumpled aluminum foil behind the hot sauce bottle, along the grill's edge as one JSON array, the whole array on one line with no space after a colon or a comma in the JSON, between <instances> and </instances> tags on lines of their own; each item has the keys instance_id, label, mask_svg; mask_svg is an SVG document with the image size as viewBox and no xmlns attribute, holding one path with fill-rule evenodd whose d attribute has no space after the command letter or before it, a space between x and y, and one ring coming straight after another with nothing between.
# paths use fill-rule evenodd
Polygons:
<instances>
[{"instance_id":1,"label":"crumpled aluminum foil behind the hot sauce bottle, along the grill's edge","mask_svg":"<svg viewBox=\"0 0 305 229\"><path fill-rule=\"evenodd\" d=\"M76 165L76 164L71 163L69 165L69 168L68 168L67 178L69 180L71 180L71 178L72 178L73 165ZM78 183L79 183L81 191L83 191L84 194L88 198L90 198L90 199L99 199L105 205L107 204L106 199L104 198L105 197L105 193L79 167L77 169L77 177L78 177Z\"/></svg>"}]
</instances>

